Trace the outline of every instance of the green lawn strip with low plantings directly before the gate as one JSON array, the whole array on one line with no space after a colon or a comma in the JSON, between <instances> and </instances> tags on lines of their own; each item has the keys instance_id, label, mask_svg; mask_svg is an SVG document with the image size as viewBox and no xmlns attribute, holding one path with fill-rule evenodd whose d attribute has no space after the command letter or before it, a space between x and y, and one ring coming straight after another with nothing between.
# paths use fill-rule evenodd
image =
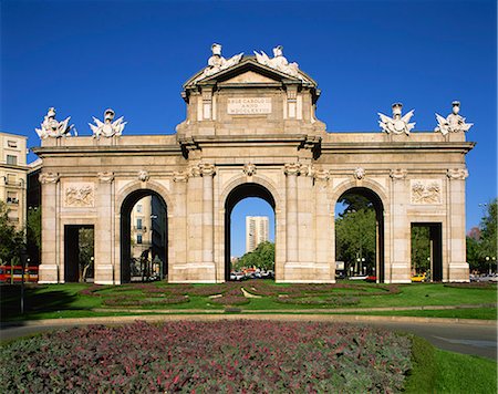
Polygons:
<instances>
[{"instance_id":1,"label":"green lawn strip with low plantings directly before the gate","mask_svg":"<svg viewBox=\"0 0 498 394\"><path fill-rule=\"evenodd\" d=\"M259 298L243 298L240 288L253 294L259 292ZM185 293L188 296L183 296ZM225 304L209 297L218 293L227 296ZM341 282L338 286L308 286L248 281L185 286L154 282L97 287L90 283L66 283L29 284L25 287L24 294L24 314L21 315L20 287L0 287L2 321L121 315L133 314L136 310L224 311L231 308L231 300L243 303L234 304L241 312L278 310L289 313L297 310L341 312L344 308L487 304L490 307L354 313L488 320L497 318L496 284L485 287L455 287L443 283L376 286L375 283ZM174 299L168 301L168 298ZM177 300L179 303L175 303Z\"/></svg>"}]
</instances>

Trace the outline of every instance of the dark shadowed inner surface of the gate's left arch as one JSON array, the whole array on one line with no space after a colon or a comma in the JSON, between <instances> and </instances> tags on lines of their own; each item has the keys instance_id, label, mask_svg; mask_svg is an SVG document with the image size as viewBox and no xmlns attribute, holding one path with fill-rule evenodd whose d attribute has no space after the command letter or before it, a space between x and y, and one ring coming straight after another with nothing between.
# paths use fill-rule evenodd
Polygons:
<instances>
[{"instance_id":1,"label":"dark shadowed inner surface of the gate's left arch","mask_svg":"<svg viewBox=\"0 0 498 394\"><path fill-rule=\"evenodd\" d=\"M144 197L152 197L149 231L151 260L157 257L160 260L159 278L168 274L168 221L167 205L165 199L155 190L138 189L129 193L121 206L121 283L127 283L132 279L132 210ZM145 229L144 229L145 231Z\"/></svg>"}]
</instances>

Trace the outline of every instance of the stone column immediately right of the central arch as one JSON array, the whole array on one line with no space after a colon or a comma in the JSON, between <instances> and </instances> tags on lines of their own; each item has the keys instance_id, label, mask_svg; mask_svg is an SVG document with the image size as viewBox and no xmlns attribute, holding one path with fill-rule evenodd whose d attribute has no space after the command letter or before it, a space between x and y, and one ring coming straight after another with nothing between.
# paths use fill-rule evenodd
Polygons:
<instances>
[{"instance_id":1,"label":"stone column immediately right of the central arch","mask_svg":"<svg viewBox=\"0 0 498 394\"><path fill-rule=\"evenodd\" d=\"M287 262L298 262L298 175L300 164L286 164L287 176Z\"/></svg>"}]
</instances>

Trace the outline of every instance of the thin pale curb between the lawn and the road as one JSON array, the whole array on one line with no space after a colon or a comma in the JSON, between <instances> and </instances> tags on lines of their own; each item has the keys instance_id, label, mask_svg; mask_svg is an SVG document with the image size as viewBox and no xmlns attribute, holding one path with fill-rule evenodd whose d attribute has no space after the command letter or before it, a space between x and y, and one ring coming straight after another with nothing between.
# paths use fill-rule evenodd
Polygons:
<instances>
[{"instance_id":1,"label":"thin pale curb between the lawn and the road","mask_svg":"<svg viewBox=\"0 0 498 394\"><path fill-rule=\"evenodd\" d=\"M97 317L72 319L43 319L25 320L19 322L1 323L0 328L11 329L20 326L59 326L59 325L90 325L90 324L126 324L136 320L146 322L168 321L219 321L219 320L277 320L277 321L322 321L322 322L352 322L352 323L418 323L418 324L464 324L496 326L495 320L478 319L447 319L447 318L417 318L417 317L376 317L353 314L262 314L262 313L234 313L234 314L155 314L129 317Z\"/></svg>"}]
</instances>

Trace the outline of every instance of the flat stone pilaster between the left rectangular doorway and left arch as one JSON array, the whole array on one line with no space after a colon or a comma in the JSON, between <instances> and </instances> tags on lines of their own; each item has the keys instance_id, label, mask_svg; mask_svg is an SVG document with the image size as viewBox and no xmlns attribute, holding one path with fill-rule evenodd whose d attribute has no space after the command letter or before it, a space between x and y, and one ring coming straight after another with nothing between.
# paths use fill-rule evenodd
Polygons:
<instances>
[{"instance_id":1,"label":"flat stone pilaster between the left rectangular doorway and left arch","mask_svg":"<svg viewBox=\"0 0 498 394\"><path fill-rule=\"evenodd\" d=\"M97 174L97 221L95 224L95 260L94 280L97 284L116 284L120 282L116 272L114 251L114 174L103 172Z\"/></svg>"}]
</instances>

